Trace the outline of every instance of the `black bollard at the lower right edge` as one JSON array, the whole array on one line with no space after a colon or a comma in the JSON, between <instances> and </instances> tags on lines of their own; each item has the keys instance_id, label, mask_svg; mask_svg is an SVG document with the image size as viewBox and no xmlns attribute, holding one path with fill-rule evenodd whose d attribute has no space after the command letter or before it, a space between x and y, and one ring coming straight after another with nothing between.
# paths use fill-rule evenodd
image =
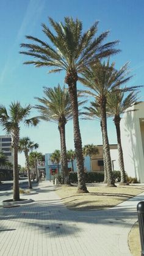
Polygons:
<instances>
[{"instance_id":1,"label":"black bollard at the lower right edge","mask_svg":"<svg viewBox=\"0 0 144 256\"><path fill-rule=\"evenodd\" d=\"M144 256L144 201L137 204L137 214L140 230L141 256Z\"/></svg>"}]
</instances>

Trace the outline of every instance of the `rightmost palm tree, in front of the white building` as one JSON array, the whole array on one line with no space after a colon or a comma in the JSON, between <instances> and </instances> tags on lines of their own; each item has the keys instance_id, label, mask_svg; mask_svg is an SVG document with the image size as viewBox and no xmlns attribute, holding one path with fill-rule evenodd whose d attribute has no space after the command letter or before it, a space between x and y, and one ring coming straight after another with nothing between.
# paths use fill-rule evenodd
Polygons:
<instances>
[{"instance_id":1,"label":"rightmost palm tree, in front of the white building","mask_svg":"<svg viewBox=\"0 0 144 256\"><path fill-rule=\"evenodd\" d=\"M115 128L117 131L117 142L118 142L118 162L121 172L121 185L128 185L126 181L126 172L124 170L124 161L123 161L123 148L121 146L121 133L120 133L120 115L123 114L126 109L131 107L136 101L137 92L130 92L127 97L124 98L124 92L121 91L112 91L108 94L107 97L107 111L112 115L113 122L115 123Z\"/></svg>"}]
</instances>

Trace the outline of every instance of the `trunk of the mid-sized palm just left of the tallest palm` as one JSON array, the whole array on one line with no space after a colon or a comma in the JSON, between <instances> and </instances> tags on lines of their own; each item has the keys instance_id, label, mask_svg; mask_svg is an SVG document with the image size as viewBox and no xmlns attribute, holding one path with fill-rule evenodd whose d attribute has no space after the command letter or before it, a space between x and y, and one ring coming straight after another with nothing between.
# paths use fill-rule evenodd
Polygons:
<instances>
[{"instance_id":1,"label":"trunk of the mid-sized palm just left of the tallest palm","mask_svg":"<svg viewBox=\"0 0 144 256\"><path fill-rule=\"evenodd\" d=\"M65 143L65 124L64 123L61 123L61 125L59 125L59 131L60 131L60 145L61 145L61 153L62 153L64 183L70 184L70 180L68 176L68 160L67 160L67 148Z\"/></svg>"}]
</instances>

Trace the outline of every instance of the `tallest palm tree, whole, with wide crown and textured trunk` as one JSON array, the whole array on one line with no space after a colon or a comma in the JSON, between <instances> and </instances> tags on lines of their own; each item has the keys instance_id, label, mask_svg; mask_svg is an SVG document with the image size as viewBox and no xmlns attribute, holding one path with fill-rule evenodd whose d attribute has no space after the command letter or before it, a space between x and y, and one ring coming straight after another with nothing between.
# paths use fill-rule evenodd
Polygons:
<instances>
[{"instance_id":1,"label":"tallest palm tree, whole, with wide crown and textured trunk","mask_svg":"<svg viewBox=\"0 0 144 256\"><path fill-rule=\"evenodd\" d=\"M118 41L104 44L109 31L95 37L98 31L98 21L93 24L87 32L82 34L82 22L65 17L65 22L59 22L49 18L49 23L54 33L48 26L42 24L43 32L48 37L49 43L38 38L27 35L26 38L32 43L21 43L26 51L20 53L34 57L24 64L34 64L35 67L54 67L49 72L64 70L66 72L65 82L71 99L73 111L74 147L77 160L77 192L88 192L85 186L84 159L82 156L82 140L79 128L78 104L77 104L77 80L78 73L81 73L85 66L95 62L96 58L110 56L118 53L114 49Z\"/></svg>"}]
</instances>

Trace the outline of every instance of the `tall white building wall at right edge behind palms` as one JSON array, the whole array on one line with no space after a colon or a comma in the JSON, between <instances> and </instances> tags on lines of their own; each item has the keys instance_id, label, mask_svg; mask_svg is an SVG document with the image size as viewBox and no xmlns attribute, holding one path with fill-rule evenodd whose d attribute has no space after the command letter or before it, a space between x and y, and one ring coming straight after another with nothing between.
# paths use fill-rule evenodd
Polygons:
<instances>
[{"instance_id":1,"label":"tall white building wall at right edge behind palms","mask_svg":"<svg viewBox=\"0 0 144 256\"><path fill-rule=\"evenodd\" d=\"M121 143L128 176L144 183L144 102L135 104L124 113Z\"/></svg>"}]
</instances>

